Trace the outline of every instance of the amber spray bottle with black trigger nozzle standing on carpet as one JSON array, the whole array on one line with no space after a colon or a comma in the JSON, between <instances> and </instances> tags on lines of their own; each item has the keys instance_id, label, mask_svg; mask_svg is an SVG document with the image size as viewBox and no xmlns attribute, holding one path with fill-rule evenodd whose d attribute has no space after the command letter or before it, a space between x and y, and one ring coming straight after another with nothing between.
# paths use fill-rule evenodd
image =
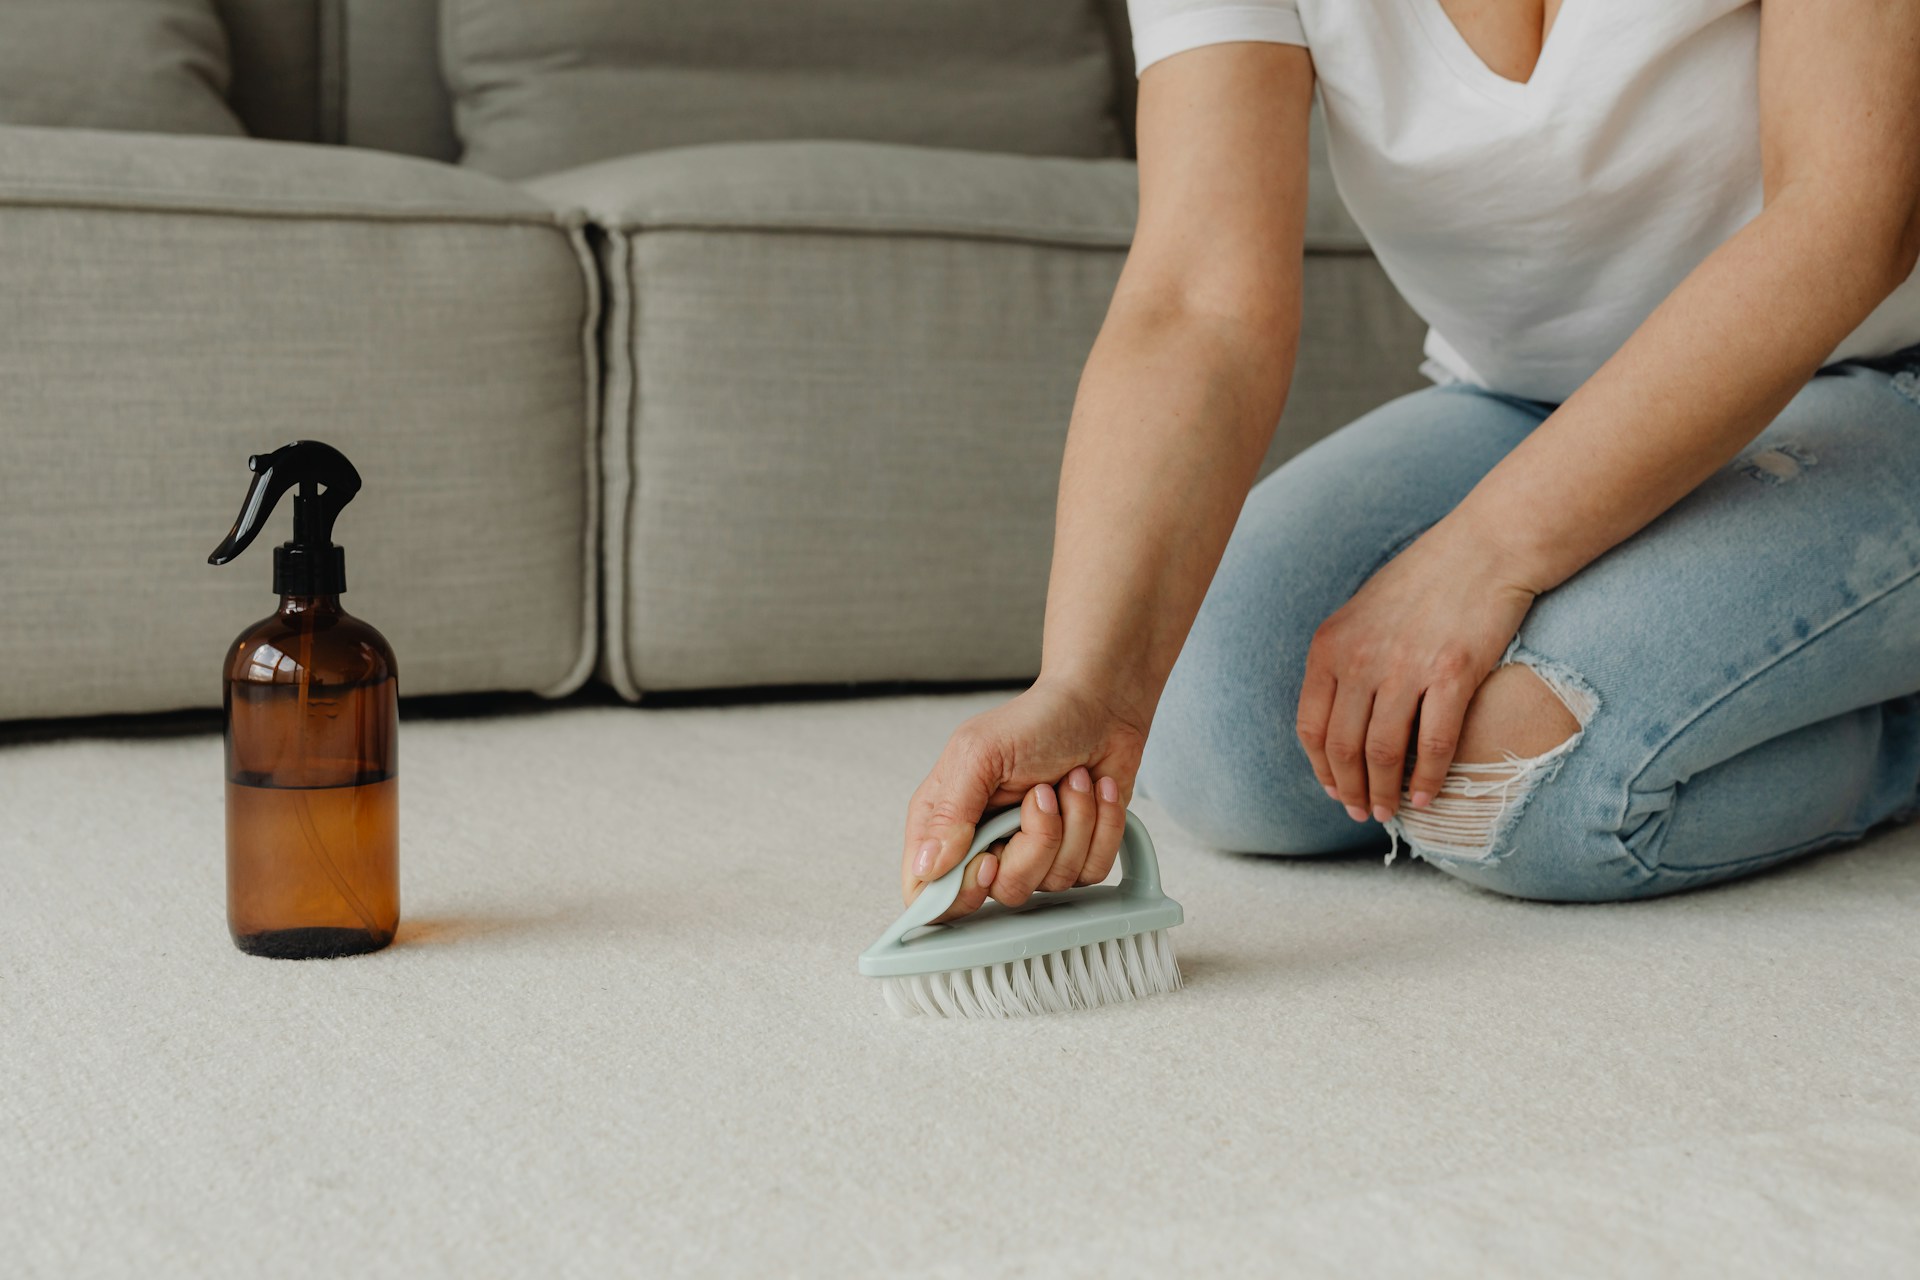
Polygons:
<instances>
[{"instance_id":1,"label":"amber spray bottle with black trigger nozzle standing on carpet","mask_svg":"<svg viewBox=\"0 0 1920 1280\"><path fill-rule=\"evenodd\" d=\"M334 518L361 478L317 439L248 468L209 564L246 551L300 491L294 537L273 553L280 608L227 652L227 927L253 956L376 952L399 925L399 702L386 637L340 608Z\"/></svg>"}]
</instances>

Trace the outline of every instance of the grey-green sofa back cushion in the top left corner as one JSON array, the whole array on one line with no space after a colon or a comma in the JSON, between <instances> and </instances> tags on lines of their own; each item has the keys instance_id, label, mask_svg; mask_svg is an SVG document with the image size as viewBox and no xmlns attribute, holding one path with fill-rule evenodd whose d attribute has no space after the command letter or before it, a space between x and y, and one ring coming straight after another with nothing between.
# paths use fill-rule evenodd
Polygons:
<instances>
[{"instance_id":1,"label":"grey-green sofa back cushion in the top left corner","mask_svg":"<svg viewBox=\"0 0 1920 1280\"><path fill-rule=\"evenodd\" d=\"M6 0L0 125L246 132L211 0Z\"/></svg>"}]
</instances>

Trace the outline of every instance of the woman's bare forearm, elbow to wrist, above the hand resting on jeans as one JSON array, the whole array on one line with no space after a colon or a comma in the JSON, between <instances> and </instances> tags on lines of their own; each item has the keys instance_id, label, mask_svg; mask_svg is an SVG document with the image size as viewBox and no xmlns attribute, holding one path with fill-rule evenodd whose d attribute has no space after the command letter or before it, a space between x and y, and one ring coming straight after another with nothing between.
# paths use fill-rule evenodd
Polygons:
<instances>
[{"instance_id":1,"label":"woman's bare forearm, elbow to wrist, above the hand resting on jeans","mask_svg":"<svg viewBox=\"0 0 1920 1280\"><path fill-rule=\"evenodd\" d=\"M1893 290L1897 236L1866 230L1812 192L1768 205L1448 520L1534 591L1630 537L1759 436Z\"/></svg>"}]
</instances>

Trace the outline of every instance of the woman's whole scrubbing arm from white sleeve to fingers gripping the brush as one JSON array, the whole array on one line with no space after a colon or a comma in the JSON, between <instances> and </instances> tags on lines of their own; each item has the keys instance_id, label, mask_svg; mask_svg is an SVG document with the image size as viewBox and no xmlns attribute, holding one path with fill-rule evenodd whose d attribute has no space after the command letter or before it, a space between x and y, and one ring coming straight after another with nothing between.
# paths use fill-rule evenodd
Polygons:
<instances>
[{"instance_id":1,"label":"woman's whole scrubbing arm from white sleeve to fingers gripping the brush","mask_svg":"<svg viewBox=\"0 0 1920 1280\"><path fill-rule=\"evenodd\" d=\"M908 900L998 804L1021 829L948 915L1112 869L1154 704L1286 401L1311 98L1288 44L1140 77L1140 219L1068 430L1041 677L960 725L914 793Z\"/></svg>"}]
</instances>

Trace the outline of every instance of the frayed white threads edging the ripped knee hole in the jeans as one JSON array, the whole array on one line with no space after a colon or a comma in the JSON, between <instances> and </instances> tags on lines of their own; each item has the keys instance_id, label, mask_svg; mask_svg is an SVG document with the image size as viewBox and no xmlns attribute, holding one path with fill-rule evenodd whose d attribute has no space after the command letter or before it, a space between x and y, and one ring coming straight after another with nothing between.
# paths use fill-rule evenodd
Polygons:
<instances>
[{"instance_id":1,"label":"frayed white threads edging the ripped knee hole in the jeans","mask_svg":"<svg viewBox=\"0 0 1920 1280\"><path fill-rule=\"evenodd\" d=\"M1455 760L1425 808L1413 808L1411 796L1402 794L1400 812L1386 823L1392 837L1392 846L1386 850L1388 864L1400 852L1400 841L1407 842L1415 858L1427 860L1490 862L1501 856L1500 844L1526 800L1580 745L1588 722L1599 710L1594 689L1569 668L1532 654L1517 656L1509 651L1501 666L1509 664L1521 664L1538 676L1578 727L1561 743L1532 756L1503 750L1500 760Z\"/></svg>"}]
</instances>

